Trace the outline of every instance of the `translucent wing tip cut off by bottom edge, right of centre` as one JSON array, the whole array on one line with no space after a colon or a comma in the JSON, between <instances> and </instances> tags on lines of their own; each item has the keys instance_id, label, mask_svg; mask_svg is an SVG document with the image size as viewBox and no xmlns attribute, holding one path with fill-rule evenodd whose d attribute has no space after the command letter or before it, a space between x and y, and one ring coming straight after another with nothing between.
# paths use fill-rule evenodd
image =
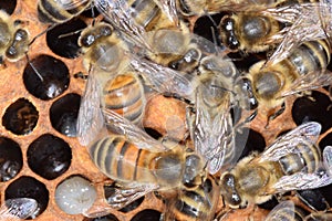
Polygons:
<instances>
[{"instance_id":1,"label":"translucent wing tip cut off by bottom edge, right of centre","mask_svg":"<svg viewBox=\"0 0 332 221\"><path fill-rule=\"evenodd\" d=\"M266 217L266 221L278 221L278 220L292 220L290 218L295 217L295 206L291 200L281 201L277 204Z\"/></svg>"}]
</instances>

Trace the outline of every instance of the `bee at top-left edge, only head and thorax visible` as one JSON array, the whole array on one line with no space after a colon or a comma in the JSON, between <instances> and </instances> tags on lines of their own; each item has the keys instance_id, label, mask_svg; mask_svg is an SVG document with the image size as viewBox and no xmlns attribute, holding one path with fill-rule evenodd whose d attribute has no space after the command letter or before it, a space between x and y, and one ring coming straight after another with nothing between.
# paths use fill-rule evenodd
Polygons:
<instances>
[{"instance_id":1,"label":"bee at top-left edge, only head and thorax visible","mask_svg":"<svg viewBox=\"0 0 332 221\"><path fill-rule=\"evenodd\" d=\"M7 59L17 62L28 52L29 32L21 28L19 21L12 21L9 14L0 10L0 63Z\"/></svg>"}]
</instances>

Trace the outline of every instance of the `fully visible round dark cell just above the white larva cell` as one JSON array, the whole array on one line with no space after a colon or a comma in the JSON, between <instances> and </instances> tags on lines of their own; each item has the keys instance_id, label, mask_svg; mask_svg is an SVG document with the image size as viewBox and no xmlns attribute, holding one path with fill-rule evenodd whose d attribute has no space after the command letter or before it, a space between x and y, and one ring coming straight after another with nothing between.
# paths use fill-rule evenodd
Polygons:
<instances>
[{"instance_id":1,"label":"fully visible round dark cell just above the white larva cell","mask_svg":"<svg viewBox=\"0 0 332 221\"><path fill-rule=\"evenodd\" d=\"M31 143L27 158L29 167L35 173L52 180L69 169L72 150L63 139L45 134Z\"/></svg>"}]
</instances>

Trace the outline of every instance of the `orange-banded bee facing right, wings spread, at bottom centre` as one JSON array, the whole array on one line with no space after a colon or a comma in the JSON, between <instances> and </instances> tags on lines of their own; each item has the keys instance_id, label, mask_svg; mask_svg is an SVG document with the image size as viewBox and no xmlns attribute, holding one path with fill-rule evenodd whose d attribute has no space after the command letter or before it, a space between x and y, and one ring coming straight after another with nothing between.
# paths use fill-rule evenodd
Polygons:
<instances>
[{"instance_id":1,"label":"orange-banded bee facing right, wings spread, at bottom centre","mask_svg":"<svg viewBox=\"0 0 332 221\"><path fill-rule=\"evenodd\" d=\"M112 207L124 207L154 190L201 185L206 172L199 155L173 140L154 140L110 109L103 114L108 130L115 134L96 139L89 151L101 171L123 185L110 199Z\"/></svg>"}]
</instances>

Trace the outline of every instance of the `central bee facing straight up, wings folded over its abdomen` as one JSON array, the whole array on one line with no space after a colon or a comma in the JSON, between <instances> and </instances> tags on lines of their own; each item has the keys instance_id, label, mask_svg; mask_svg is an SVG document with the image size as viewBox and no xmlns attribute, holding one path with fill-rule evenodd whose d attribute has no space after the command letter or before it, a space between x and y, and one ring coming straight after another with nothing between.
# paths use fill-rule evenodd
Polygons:
<instances>
[{"instance_id":1,"label":"central bee facing straight up, wings folded over its abdomen","mask_svg":"<svg viewBox=\"0 0 332 221\"><path fill-rule=\"evenodd\" d=\"M195 150L206 158L209 172L215 175L239 157L236 152L241 152L235 147L231 107L243 96L236 86L238 71L230 60L206 56L199 70L194 115L187 119Z\"/></svg>"}]
</instances>

